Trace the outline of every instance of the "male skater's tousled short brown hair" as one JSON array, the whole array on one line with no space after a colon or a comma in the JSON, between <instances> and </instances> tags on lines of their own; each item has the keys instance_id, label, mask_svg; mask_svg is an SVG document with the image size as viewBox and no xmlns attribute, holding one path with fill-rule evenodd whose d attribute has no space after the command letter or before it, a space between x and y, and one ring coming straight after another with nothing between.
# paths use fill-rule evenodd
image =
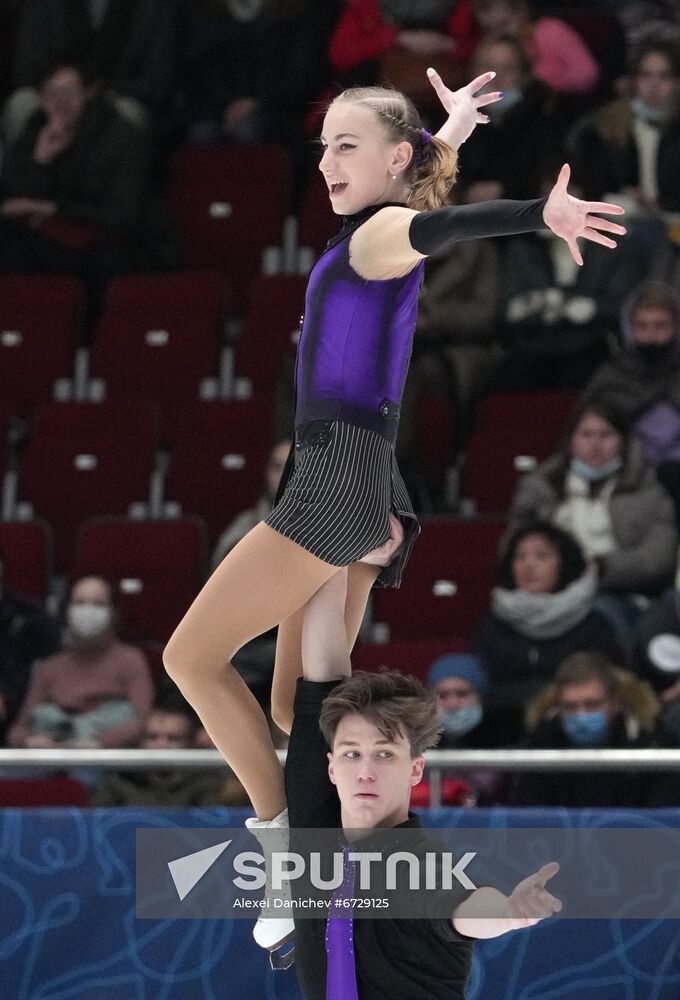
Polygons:
<instances>
[{"instance_id":1,"label":"male skater's tousled short brown hair","mask_svg":"<svg viewBox=\"0 0 680 1000\"><path fill-rule=\"evenodd\" d=\"M358 670L333 689L319 716L321 732L331 748L346 715L368 719L387 740L405 736L413 758L436 746L441 735L435 692L417 677L396 671L374 674Z\"/></svg>"}]
</instances>

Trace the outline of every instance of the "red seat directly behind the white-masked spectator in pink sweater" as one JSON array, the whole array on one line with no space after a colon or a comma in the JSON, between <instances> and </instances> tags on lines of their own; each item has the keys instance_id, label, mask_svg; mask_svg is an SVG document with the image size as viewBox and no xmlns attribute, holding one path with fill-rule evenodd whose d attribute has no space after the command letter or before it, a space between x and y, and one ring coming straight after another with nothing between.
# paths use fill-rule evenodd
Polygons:
<instances>
[{"instance_id":1,"label":"red seat directly behind the white-masked spectator in pink sweater","mask_svg":"<svg viewBox=\"0 0 680 1000\"><path fill-rule=\"evenodd\" d=\"M205 564L198 518L98 518L78 533L75 572L118 582L124 635L135 642L169 639L203 583Z\"/></svg>"}]
</instances>

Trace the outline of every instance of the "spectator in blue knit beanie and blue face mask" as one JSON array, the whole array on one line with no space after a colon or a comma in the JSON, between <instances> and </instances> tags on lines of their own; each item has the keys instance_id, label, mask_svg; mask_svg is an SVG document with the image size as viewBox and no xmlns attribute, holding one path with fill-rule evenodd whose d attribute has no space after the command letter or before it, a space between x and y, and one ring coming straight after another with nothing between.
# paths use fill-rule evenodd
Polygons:
<instances>
[{"instance_id":1,"label":"spectator in blue knit beanie and blue face mask","mask_svg":"<svg viewBox=\"0 0 680 1000\"><path fill-rule=\"evenodd\" d=\"M485 699L489 679L476 656L449 653L439 657L430 667L427 683L437 695L437 716L443 730L437 744L439 750L498 749L517 740L519 734L504 727L497 713L487 710ZM461 782L467 792L461 791ZM430 783L421 784L424 790L418 792L418 785L414 793L418 804L427 805ZM456 768L443 775L442 802L445 805L502 805L507 784L503 773L490 768Z\"/></svg>"}]
</instances>

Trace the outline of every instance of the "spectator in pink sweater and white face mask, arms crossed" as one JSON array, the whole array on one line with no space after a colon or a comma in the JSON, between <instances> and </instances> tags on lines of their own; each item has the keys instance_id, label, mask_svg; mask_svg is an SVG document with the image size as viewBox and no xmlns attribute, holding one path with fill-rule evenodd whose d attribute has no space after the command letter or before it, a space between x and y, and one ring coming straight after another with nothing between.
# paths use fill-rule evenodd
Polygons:
<instances>
[{"instance_id":1,"label":"spectator in pink sweater and white face mask, arms crossed","mask_svg":"<svg viewBox=\"0 0 680 1000\"><path fill-rule=\"evenodd\" d=\"M8 745L133 747L152 702L142 653L116 634L112 584L83 576L66 603L65 648L39 664Z\"/></svg>"}]
</instances>

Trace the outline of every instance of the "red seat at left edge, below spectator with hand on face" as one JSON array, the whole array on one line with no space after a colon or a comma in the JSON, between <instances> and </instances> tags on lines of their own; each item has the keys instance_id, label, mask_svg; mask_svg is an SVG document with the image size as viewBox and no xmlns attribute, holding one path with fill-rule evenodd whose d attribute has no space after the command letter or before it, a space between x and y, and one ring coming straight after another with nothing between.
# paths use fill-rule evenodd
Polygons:
<instances>
[{"instance_id":1,"label":"red seat at left edge, below spectator with hand on face","mask_svg":"<svg viewBox=\"0 0 680 1000\"><path fill-rule=\"evenodd\" d=\"M84 293L70 275L0 277L0 395L26 415L72 378Z\"/></svg>"}]
</instances>

